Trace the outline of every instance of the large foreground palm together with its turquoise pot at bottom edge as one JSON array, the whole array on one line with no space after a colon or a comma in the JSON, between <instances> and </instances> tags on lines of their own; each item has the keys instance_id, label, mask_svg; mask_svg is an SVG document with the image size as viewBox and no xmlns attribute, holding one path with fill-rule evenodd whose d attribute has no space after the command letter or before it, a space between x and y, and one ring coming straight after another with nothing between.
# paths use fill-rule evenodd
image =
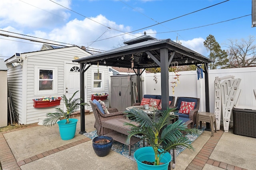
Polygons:
<instances>
[{"instance_id":1,"label":"large foreground palm together with its turquoise pot at bottom edge","mask_svg":"<svg viewBox=\"0 0 256 170\"><path fill-rule=\"evenodd\" d=\"M133 135L142 135L142 139L150 146L135 151L134 158L137 161L138 170L168 169L168 164L171 161L168 152L171 149L182 150L186 147L194 150L190 144L191 141L184 136L184 133L198 134L198 129L188 129L182 121L171 123L176 115L170 113L175 109L155 110L152 114L136 108L125 111L131 121L140 124L139 127L136 127L131 123L125 123L125 125L132 126L126 143L129 143Z\"/></svg>"}]
</instances>

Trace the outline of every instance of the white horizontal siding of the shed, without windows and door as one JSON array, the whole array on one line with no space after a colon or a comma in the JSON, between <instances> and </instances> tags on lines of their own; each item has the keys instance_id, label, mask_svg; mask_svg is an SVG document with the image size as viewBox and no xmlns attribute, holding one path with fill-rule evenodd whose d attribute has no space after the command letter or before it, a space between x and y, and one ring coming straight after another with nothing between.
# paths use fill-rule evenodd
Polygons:
<instances>
[{"instance_id":1,"label":"white horizontal siding of the shed, without windows and door","mask_svg":"<svg viewBox=\"0 0 256 170\"><path fill-rule=\"evenodd\" d=\"M67 47L61 49L52 49L45 51L36 51L32 53L23 53L22 58L26 57L26 60L22 61L23 66L13 67L12 63L17 62L18 59L12 58L6 61L8 66L8 84L10 91L12 93L12 98L14 100L14 106L16 112L19 114L19 121L21 124L30 124L38 122L38 117L45 117L46 113L54 112L56 107L64 109L64 104L61 100L60 106L55 107L44 107L44 108L34 108L33 99L42 98L43 96L58 96L61 97L66 92L65 87L65 65L66 63L74 64L80 67L79 63L73 63L74 57L79 58L89 56L90 53L80 49L79 47ZM55 94L36 94L35 84L36 84L36 67L42 68L57 68L57 89ZM91 70L97 71L97 66L91 66L86 71L86 89L87 99L91 97L91 94L96 92L91 92L91 76L88 72ZM103 82L104 82L104 92L108 92L108 72L107 67L100 66L99 69L104 71ZM88 75L88 76L87 76ZM106 79L106 80L105 80ZM80 89L78 89L80 90ZM102 92L103 92L102 91ZM99 92L97 92L99 93ZM89 103L89 100L85 101ZM90 109L87 108L86 109Z\"/></svg>"}]
</instances>

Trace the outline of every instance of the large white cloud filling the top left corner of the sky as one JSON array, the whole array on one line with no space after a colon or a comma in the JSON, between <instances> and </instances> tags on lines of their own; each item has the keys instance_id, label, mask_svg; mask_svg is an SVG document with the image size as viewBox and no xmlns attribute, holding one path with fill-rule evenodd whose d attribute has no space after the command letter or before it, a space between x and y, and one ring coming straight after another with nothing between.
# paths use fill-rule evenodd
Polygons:
<instances>
[{"instance_id":1,"label":"large white cloud filling the top left corner of the sky","mask_svg":"<svg viewBox=\"0 0 256 170\"><path fill-rule=\"evenodd\" d=\"M69 7L70 1L56 1ZM70 14L65 9L46 0L1 0L1 25L17 27L48 27L66 21ZM54 14L54 15L53 15Z\"/></svg>"}]
</instances>

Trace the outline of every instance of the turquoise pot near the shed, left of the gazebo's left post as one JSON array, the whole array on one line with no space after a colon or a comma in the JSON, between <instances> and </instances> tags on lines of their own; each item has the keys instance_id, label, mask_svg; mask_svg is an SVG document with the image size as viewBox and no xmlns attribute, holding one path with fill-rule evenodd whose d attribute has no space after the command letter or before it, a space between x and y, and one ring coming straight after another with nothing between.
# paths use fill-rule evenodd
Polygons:
<instances>
[{"instance_id":1,"label":"turquoise pot near the shed, left of the gazebo's left post","mask_svg":"<svg viewBox=\"0 0 256 170\"><path fill-rule=\"evenodd\" d=\"M69 140L75 137L76 123L78 119L69 119L70 123L66 123L67 120L63 119L58 121L60 137L62 140Z\"/></svg>"}]
</instances>

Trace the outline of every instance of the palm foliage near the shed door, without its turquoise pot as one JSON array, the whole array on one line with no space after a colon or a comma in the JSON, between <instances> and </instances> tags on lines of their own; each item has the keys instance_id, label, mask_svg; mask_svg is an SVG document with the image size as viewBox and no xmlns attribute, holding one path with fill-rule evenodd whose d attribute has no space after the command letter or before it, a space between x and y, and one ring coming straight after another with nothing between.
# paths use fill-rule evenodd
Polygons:
<instances>
[{"instance_id":1,"label":"palm foliage near the shed door, without its turquoise pot","mask_svg":"<svg viewBox=\"0 0 256 170\"><path fill-rule=\"evenodd\" d=\"M87 103L80 103L82 101L82 98L74 98L78 91L74 92L71 98L67 98L65 94L61 96L65 106L66 111L62 110L60 107L56 108L56 112L54 113L46 113L46 119L43 120L44 126L52 126L57 123L57 121L61 118L66 119L66 123L70 123L69 117L71 113L78 111L80 109L80 106L88 106Z\"/></svg>"}]
</instances>

